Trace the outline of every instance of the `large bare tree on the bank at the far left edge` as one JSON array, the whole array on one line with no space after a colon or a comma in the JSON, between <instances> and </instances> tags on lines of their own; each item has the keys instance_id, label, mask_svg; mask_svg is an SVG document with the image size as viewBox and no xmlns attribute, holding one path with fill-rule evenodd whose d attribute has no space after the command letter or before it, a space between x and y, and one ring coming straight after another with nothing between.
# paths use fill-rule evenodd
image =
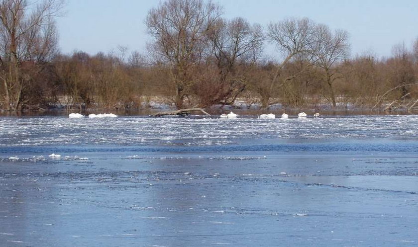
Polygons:
<instances>
[{"instance_id":1,"label":"large bare tree on the bank at the far left edge","mask_svg":"<svg viewBox=\"0 0 418 247\"><path fill-rule=\"evenodd\" d=\"M51 59L56 51L57 35L54 17L61 9L61 0L0 1L0 79L7 110L20 110L25 84L40 69L25 65ZM27 66L26 66L27 68Z\"/></svg>"}]
</instances>

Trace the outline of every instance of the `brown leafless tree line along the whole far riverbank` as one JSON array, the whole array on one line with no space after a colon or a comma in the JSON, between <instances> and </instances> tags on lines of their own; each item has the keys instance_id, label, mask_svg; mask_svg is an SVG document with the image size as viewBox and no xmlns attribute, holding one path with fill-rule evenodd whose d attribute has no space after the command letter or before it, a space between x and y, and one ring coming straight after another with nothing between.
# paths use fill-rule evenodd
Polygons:
<instances>
[{"instance_id":1,"label":"brown leafless tree line along the whole far riverbank","mask_svg":"<svg viewBox=\"0 0 418 247\"><path fill-rule=\"evenodd\" d=\"M347 31L308 18L261 26L226 19L211 1L165 0L148 11L152 44L143 54L122 46L61 54L55 19L64 7L0 0L0 109L210 108L237 99L262 108L418 108L418 39L394 44L391 57L350 57Z\"/></svg>"}]
</instances>

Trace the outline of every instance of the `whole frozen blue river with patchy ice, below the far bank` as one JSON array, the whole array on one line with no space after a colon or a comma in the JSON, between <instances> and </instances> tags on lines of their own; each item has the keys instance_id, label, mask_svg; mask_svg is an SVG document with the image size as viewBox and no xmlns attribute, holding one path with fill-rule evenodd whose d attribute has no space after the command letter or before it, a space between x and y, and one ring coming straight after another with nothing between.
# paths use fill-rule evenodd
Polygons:
<instances>
[{"instance_id":1,"label":"whole frozen blue river with patchy ice, below the far bank","mask_svg":"<svg viewBox=\"0 0 418 247\"><path fill-rule=\"evenodd\" d=\"M1 247L392 247L417 233L417 115L0 117Z\"/></svg>"}]
</instances>

